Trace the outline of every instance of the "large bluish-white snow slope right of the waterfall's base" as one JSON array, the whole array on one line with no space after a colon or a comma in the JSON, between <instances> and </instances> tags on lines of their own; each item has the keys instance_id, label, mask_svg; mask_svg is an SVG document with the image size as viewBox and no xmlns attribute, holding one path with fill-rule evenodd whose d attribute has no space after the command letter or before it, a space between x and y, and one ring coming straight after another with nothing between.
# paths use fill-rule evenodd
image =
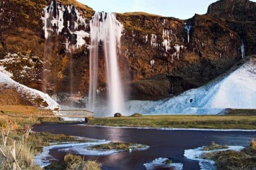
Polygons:
<instances>
[{"instance_id":1,"label":"large bluish-white snow slope right of the waterfall's base","mask_svg":"<svg viewBox=\"0 0 256 170\"><path fill-rule=\"evenodd\" d=\"M256 109L256 58L207 85L162 101L129 101L129 112L217 114L225 108Z\"/></svg>"}]
</instances>

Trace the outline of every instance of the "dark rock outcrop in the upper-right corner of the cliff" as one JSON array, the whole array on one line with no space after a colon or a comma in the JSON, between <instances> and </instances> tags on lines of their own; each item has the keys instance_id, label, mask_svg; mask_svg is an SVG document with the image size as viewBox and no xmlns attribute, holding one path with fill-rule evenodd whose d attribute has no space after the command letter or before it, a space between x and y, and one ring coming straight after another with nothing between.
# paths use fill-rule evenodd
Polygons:
<instances>
[{"instance_id":1,"label":"dark rock outcrop in the upper-right corner of the cliff","mask_svg":"<svg viewBox=\"0 0 256 170\"><path fill-rule=\"evenodd\" d=\"M222 0L212 3L207 14L224 20L245 43L247 55L256 53L256 3L249 0Z\"/></svg>"}]
</instances>

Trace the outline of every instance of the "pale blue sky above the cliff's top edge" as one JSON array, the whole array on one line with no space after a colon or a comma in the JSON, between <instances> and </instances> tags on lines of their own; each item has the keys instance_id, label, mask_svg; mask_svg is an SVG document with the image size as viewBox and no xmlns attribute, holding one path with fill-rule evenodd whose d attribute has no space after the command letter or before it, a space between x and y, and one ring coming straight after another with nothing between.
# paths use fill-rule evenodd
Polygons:
<instances>
[{"instance_id":1,"label":"pale blue sky above the cliff's top edge","mask_svg":"<svg viewBox=\"0 0 256 170\"><path fill-rule=\"evenodd\" d=\"M216 0L78 0L95 11L106 12L148 12L180 19L205 14L207 8ZM255 0L256 1L256 0ZM254 2L255 2L254 1Z\"/></svg>"}]
</instances>

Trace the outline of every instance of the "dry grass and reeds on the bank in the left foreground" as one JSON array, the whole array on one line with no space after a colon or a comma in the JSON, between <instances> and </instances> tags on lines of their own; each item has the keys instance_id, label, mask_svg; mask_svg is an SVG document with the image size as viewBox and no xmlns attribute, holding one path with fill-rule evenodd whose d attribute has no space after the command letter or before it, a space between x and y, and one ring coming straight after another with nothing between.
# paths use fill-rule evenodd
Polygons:
<instances>
[{"instance_id":1,"label":"dry grass and reeds on the bank in the left foreground","mask_svg":"<svg viewBox=\"0 0 256 170\"><path fill-rule=\"evenodd\" d=\"M43 147L51 143L90 142L84 138L77 138L63 134L32 133L32 126L18 126L15 128L9 122L7 128L1 128L0 137L0 169L42 169L34 163L34 156L43 151ZM100 170L101 164L96 161L83 160L81 156L69 156L64 161L55 161L50 169L95 169ZM59 168L60 167L60 168ZM46 168L47 169L47 168Z\"/></svg>"}]
</instances>

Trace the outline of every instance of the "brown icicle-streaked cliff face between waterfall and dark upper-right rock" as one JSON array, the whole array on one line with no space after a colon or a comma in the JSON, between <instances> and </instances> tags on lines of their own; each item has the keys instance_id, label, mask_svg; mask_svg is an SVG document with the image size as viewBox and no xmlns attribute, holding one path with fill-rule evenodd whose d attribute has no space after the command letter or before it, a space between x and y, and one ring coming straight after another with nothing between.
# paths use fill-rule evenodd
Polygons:
<instances>
[{"instance_id":1,"label":"brown icicle-streaked cliff face between waterfall and dark upper-right rock","mask_svg":"<svg viewBox=\"0 0 256 170\"><path fill-rule=\"evenodd\" d=\"M126 28L122 56L130 66L132 99L160 99L201 86L241 58L240 37L209 15L179 20L129 14L118 19ZM189 37L185 27L191 27Z\"/></svg>"}]
</instances>

